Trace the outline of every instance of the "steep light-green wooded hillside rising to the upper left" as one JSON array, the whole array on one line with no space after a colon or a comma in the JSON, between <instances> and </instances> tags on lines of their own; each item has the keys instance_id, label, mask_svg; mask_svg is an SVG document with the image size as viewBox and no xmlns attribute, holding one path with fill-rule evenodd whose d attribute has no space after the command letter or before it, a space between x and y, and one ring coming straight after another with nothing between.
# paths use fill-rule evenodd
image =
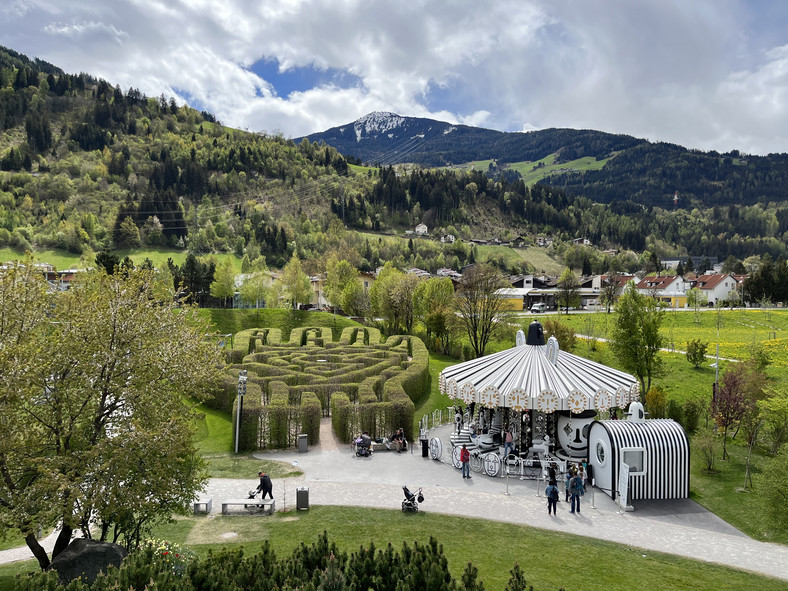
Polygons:
<instances>
[{"instance_id":1,"label":"steep light-green wooded hillside rising to the upper left","mask_svg":"<svg viewBox=\"0 0 788 591\"><path fill-rule=\"evenodd\" d=\"M256 244L274 260L308 220L328 227L350 177L329 147L223 127L164 96L123 91L0 51L0 245L73 253ZM356 185L360 188L356 188Z\"/></svg>"}]
</instances>

